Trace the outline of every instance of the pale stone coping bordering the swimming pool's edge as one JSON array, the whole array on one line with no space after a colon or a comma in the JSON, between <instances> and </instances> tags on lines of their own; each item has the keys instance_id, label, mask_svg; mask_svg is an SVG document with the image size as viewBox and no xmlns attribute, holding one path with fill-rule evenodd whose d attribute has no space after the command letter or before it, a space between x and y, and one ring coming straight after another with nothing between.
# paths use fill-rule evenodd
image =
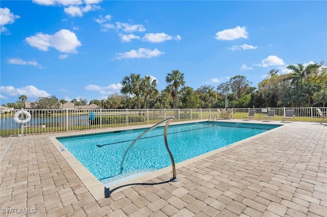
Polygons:
<instances>
[{"instance_id":1,"label":"pale stone coping bordering the swimming pool's edge","mask_svg":"<svg viewBox=\"0 0 327 217\"><path fill-rule=\"evenodd\" d=\"M197 120L197 121L188 121L188 122L183 122L183 124L186 123L197 123L197 122L206 122L206 120ZM244 121L242 120L217 120L215 122L229 122L229 123L244 123ZM279 127L283 127L285 126L285 123L282 122L278 122L278 123L274 123L274 122L260 122L258 123L258 121L246 121L247 123L252 123L252 124L273 124L273 125L279 125ZM175 123L171 123L171 125L175 125L175 124L182 124L181 122L175 122ZM150 125L151 127L152 125ZM104 186L104 184L102 184L93 174L91 174L91 172L89 172L82 164L80 161L77 160L77 158L71 154L68 150L66 150L62 144L56 139L56 138L60 138L60 137L67 137L69 136L69 134L96 134L96 133L101 133L101 132L110 132L110 131L116 131L116 130L121 130L121 129L147 129L149 127L149 125L143 125L143 126L129 126L129 127L120 127L120 128L113 128L113 129L101 129L101 130L97 130L95 132L88 132L85 133L84 131L81 132L70 132L68 134L65 135L57 135L57 136L50 136L49 139L52 142L52 144L56 147L56 149L59 151L59 153L63 156L63 158L66 160L66 162L68 163L68 165L72 168L72 170L75 172L75 174L78 176L78 178L82 181L82 183L85 185L85 187L88 189L88 191L90 192L90 194L96 199L96 200L100 200L102 198L106 198L109 197L110 194L112 192L121 192L124 189L130 187L133 184L137 184L137 183L143 183L146 181L149 181L153 178L156 178L160 175L164 175L167 173L172 173L172 169L171 166L166 167L166 168L162 168L160 170L148 173L146 175L131 179L129 181L125 181L121 184L118 185L114 185L112 187L106 188ZM271 133L276 129L279 129L279 127L270 129L268 131L262 132L260 134L257 135L253 135L252 137L246 138L244 140L229 144L225 147L213 150L213 151L209 151L207 153L201 154L199 156L190 158L188 160L184 160L182 162L179 162L175 165L176 169L182 168L186 165L192 164L195 161L204 159L206 157L212 156L214 154L217 154L219 152L222 152L224 150L227 150L229 148L232 147L236 147L240 144L243 144L247 141L253 140L257 137L262 137L263 135L267 134L267 133ZM178 178L178 174L177 174L177 178Z\"/></svg>"}]
</instances>

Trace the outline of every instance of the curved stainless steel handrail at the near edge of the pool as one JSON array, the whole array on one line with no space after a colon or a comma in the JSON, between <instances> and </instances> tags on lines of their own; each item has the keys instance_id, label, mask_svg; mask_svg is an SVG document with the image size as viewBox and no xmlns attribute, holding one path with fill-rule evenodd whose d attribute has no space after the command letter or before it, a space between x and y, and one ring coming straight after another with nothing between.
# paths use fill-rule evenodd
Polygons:
<instances>
[{"instance_id":1,"label":"curved stainless steel handrail at the near edge of the pool","mask_svg":"<svg viewBox=\"0 0 327 217\"><path fill-rule=\"evenodd\" d=\"M170 180L171 181L178 181L178 178L176 178L176 167L175 167L175 160L174 160L174 157L173 157L173 154L172 152L170 151L169 149L169 146L168 146L168 142L167 142L167 128L168 128L168 125L169 123L174 119L174 117L170 117L170 118L167 118L166 120L164 121L161 121L157 124L155 124L154 126L150 127L149 129L147 129L146 131L144 131L141 135L139 135L129 146L128 148L126 149L125 153L124 153L124 156L123 156L123 159L122 159L122 162L121 162L121 172L120 174L123 173L123 164L124 164L124 161L125 161L125 158L126 158L126 154L127 152L131 149L131 147L139 140L143 137L143 135L145 135L147 132L151 131L152 129L156 128L157 126L163 124L166 122L166 126L165 126L165 129L164 129L164 141L165 141L165 145L166 145L166 149L168 151L168 154L169 154L169 157L170 157L170 160L172 162L172 168L173 168L173 178L171 178Z\"/></svg>"}]
</instances>

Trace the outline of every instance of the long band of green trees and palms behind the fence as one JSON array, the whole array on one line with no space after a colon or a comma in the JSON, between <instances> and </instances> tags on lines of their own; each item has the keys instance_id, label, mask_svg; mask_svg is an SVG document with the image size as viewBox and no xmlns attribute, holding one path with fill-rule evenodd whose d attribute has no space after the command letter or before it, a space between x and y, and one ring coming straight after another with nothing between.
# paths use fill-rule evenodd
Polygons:
<instances>
[{"instance_id":1,"label":"long band of green trees and palms behind the fence","mask_svg":"<svg viewBox=\"0 0 327 217\"><path fill-rule=\"evenodd\" d=\"M89 104L97 104L107 109L117 108L219 108L219 107L310 107L325 106L327 102L327 65L324 61L309 65L295 64L287 66L288 74L278 69L269 71L268 76L252 87L244 75L231 77L228 82L217 88L204 85L194 90L185 86L184 73L172 70L167 73L167 86L157 90L157 80L141 74L125 76L121 82L120 93L110 94L107 99L93 99ZM25 95L14 103L4 106L21 108ZM60 103L56 96L40 97L32 102L36 109L58 109ZM71 100L77 107L87 104L87 100ZM226 104L227 102L227 104Z\"/></svg>"}]
</instances>

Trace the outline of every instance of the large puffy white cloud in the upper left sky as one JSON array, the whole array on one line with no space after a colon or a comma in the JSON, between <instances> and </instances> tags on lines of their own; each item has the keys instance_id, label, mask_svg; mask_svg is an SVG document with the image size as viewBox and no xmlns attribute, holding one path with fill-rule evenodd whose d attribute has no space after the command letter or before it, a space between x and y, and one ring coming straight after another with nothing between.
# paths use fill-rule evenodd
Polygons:
<instances>
[{"instance_id":1,"label":"large puffy white cloud in the upper left sky","mask_svg":"<svg viewBox=\"0 0 327 217\"><path fill-rule=\"evenodd\" d=\"M49 47L54 47L60 52L78 53L76 48L81 46L75 33L69 30L60 30L54 35L38 33L35 36L26 38L27 43L32 47L48 51Z\"/></svg>"}]
</instances>

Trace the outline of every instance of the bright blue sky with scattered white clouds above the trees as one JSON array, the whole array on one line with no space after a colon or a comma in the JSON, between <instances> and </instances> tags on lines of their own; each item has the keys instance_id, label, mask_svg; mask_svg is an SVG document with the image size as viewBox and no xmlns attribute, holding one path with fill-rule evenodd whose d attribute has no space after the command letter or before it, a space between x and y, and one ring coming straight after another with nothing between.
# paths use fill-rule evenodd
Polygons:
<instances>
[{"instance_id":1,"label":"bright blue sky with scattered white clouds above the trees","mask_svg":"<svg viewBox=\"0 0 327 217\"><path fill-rule=\"evenodd\" d=\"M327 61L326 1L1 1L1 104L107 98L172 70L195 90Z\"/></svg>"}]
</instances>

